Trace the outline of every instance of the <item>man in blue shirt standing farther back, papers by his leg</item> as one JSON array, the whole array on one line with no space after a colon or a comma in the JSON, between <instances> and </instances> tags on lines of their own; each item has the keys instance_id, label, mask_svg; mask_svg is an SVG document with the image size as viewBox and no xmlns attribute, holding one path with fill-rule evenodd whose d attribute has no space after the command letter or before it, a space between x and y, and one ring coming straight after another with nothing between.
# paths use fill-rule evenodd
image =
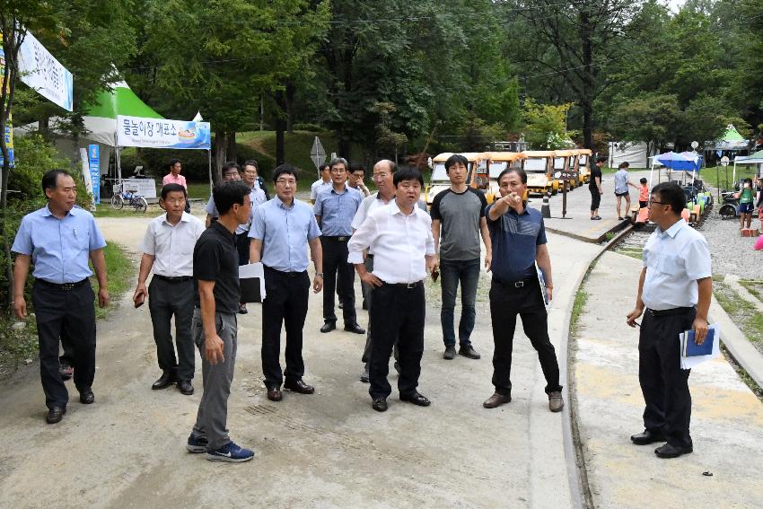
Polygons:
<instances>
[{"instance_id":1,"label":"man in blue shirt standing farther back, papers by his leg","mask_svg":"<svg viewBox=\"0 0 763 509\"><path fill-rule=\"evenodd\" d=\"M353 234L352 221L363 195L347 185L347 164L344 159L329 162L331 187L322 189L315 200L312 211L320 223L320 247L323 250L324 285L323 327L320 332L330 332L337 328L334 313L334 291L343 303L342 315L345 330L355 334L365 334L357 324L355 316L355 269L347 263L347 241Z\"/></svg>"}]
</instances>

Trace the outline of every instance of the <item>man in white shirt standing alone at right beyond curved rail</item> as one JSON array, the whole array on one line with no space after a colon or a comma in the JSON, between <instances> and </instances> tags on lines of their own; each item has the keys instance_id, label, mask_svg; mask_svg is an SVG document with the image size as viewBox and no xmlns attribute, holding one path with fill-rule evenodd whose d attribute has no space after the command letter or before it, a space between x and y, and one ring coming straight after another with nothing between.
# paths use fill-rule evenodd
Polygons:
<instances>
[{"instance_id":1,"label":"man in white shirt standing alone at right beyond curved rail","mask_svg":"<svg viewBox=\"0 0 763 509\"><path fill-rule=\"evenodd\" d=\"M654 450L660 458L692 452L689 370L680 369L679 335L691 329L697 344L705 341L713 294L707 241L681 219L685 206L678 184L662 182L652 189L649 219L657 229L644 247L636 309L627 315L627 324L635 327L644 313L638 379L646 403L645 431L630 439L636 445L667 442Z\"/></svg>"}]
</instances>

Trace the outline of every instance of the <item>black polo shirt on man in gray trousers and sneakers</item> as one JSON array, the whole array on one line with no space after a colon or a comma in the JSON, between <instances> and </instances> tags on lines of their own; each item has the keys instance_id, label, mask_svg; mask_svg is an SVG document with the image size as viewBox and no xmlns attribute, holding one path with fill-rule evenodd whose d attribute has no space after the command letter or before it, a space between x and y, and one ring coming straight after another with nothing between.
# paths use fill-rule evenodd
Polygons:
<instances>
[{"instance_id":1,"label":"black polo shirt on man in gray trousers and sneakers","mask_svg":"<svg viewBox=\"0 0 763 509\"><path fill-rule=\"evenodd\" d=\"M215 222L196 241L193 249L194 300L199 305L198 280L215 281L215 312L239 311L239 253L236 236Z\"/></svg>"}]
</instances>

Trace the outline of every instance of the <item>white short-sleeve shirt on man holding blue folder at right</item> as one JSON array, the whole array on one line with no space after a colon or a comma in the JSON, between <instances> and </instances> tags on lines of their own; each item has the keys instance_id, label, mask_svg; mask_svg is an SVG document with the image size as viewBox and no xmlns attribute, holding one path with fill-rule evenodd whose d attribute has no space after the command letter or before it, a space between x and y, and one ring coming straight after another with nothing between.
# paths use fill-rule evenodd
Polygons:
<instances>
[{"instance_id":1,"label":"white short-sleeve shirt on man holding blue folder at right","mask_svg":"<svg viewBox=\"0 0 763 509\"><path fill-rule=\"evenodd\" d=\"M702 233L680 219L664 233L658 227L643 253L646 277L641 299L647 308L669 310L697 305L697 279L712 276L710 250Z\"/></svg>"}]
</instances>

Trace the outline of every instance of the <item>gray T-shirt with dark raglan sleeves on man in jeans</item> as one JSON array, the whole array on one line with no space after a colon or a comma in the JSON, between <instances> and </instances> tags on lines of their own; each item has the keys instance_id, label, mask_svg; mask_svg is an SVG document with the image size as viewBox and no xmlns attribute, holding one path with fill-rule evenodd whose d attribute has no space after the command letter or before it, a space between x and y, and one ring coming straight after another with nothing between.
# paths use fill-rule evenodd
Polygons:
<instances>
[{"instance_id":1,"label":"gray T-shirt with dark raglan sleeves on man in jeans","mask_svg":"<svg viewBox=\"0 0 763 509\"><path fill-rule=\"evenodd\" d=\"M431 215L441 223L440 259L479 258L479 221L485 207L485 195L473 188L462 193L445 189L434 197Z\"/></svg>"}]
</instances>

